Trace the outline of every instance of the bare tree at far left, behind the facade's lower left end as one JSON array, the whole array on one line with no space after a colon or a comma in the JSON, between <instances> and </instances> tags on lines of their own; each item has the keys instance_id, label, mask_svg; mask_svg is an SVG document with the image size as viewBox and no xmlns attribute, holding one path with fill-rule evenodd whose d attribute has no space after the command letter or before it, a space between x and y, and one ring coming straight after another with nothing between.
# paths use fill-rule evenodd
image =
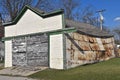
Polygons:
<instances>
[{"instance_id":1,"label":"bare tree at far left, behind the facade's lower left end","mask_svg":"<svg viewBox=\"0 0 120 80\"><path fill-rule=\"evenodd\" d=\"M1 7L3 14L8 14L10 19L13 20L21 8L26 4L31 4L30 2L31 0L2 0Z\"/></svg>"}]
</instances>

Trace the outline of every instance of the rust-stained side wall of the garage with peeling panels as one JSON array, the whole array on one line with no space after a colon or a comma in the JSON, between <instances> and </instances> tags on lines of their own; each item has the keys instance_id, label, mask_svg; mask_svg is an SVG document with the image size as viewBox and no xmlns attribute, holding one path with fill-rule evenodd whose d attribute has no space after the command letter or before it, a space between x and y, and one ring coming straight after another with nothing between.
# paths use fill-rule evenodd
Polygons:
<instances>
[{"instance_id":1,"label":"rust-stained side wall of the garage with peeling panels","mask_svg":"<svg viewBox=\"0 0 120 80\"><path fill-rule=\"evenodd\" d=\"M97 38L79 33L66 36L67 68L107 60L115 56L114 39Z\"/></svg>"}]
</instances>

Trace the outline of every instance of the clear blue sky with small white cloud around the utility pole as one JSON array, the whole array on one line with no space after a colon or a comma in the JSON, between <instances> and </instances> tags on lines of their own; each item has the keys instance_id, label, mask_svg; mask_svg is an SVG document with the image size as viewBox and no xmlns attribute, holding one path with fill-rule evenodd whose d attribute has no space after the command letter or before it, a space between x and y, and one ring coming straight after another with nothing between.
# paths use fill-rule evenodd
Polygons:
<instances>
[{"instance_id":1,"label":"clear blue sky with small white cloud around the utility pole","mask_svg":"<svg viewBox=\"0 0 120 80\"><path fill-rule=\"evenodd\" d=\"M120 0L81 0L81 4L83 6L92 5L96 10L105 9L106 11L103 12L104 25L108 28L120 25Z\"/></svg>"}]
</instances>

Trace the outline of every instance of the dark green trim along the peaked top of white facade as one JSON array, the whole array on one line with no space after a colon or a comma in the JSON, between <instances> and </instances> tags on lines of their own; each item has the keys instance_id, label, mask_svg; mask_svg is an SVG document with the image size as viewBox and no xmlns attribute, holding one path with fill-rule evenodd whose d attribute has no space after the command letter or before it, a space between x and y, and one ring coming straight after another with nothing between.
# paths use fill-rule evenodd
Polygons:
<instances>
[{"instance_id":1,"label":"dark green trim along the peaked top of white facade","mask_svg":"<svg viewBox=\"0 0 120 80\"><path fill-rule=\"evenodd\" d=\"M54 12L51 12L51 13L45 13L45 12L39 10L39 9L36 9L36 8L33 8L33 7L30 7L30 6L26 5L26 6L23 7L23 9L20 11L18 16L12 22L4 23L3 26L9 26L9 25L16 24L28 9L33 11L34 13L36 13L37 15L39 15L42 18L55 16L55 15L58 15L58 14L62 14L64 12L62 9L60 9L60 10L57 10L57 11L54 11Z\"/></svg>"}]
</instances>

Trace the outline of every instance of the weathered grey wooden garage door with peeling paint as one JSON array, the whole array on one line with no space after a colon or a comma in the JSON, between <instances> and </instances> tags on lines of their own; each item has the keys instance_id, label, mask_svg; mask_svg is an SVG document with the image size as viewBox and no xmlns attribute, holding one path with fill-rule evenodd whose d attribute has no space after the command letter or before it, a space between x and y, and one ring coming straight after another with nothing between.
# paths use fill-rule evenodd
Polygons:
<instances>
[{"instance_id":1,"label":"weathered grey wooden garage door with peeling paint","mask_svg":"<svg viewBox=\"0 0 120 80\"><path fill-rule=\"evenodd\" d=\"M46 34L15 38L12 43L14 66L48 66Z\"/></svg>"}]
</instances>

